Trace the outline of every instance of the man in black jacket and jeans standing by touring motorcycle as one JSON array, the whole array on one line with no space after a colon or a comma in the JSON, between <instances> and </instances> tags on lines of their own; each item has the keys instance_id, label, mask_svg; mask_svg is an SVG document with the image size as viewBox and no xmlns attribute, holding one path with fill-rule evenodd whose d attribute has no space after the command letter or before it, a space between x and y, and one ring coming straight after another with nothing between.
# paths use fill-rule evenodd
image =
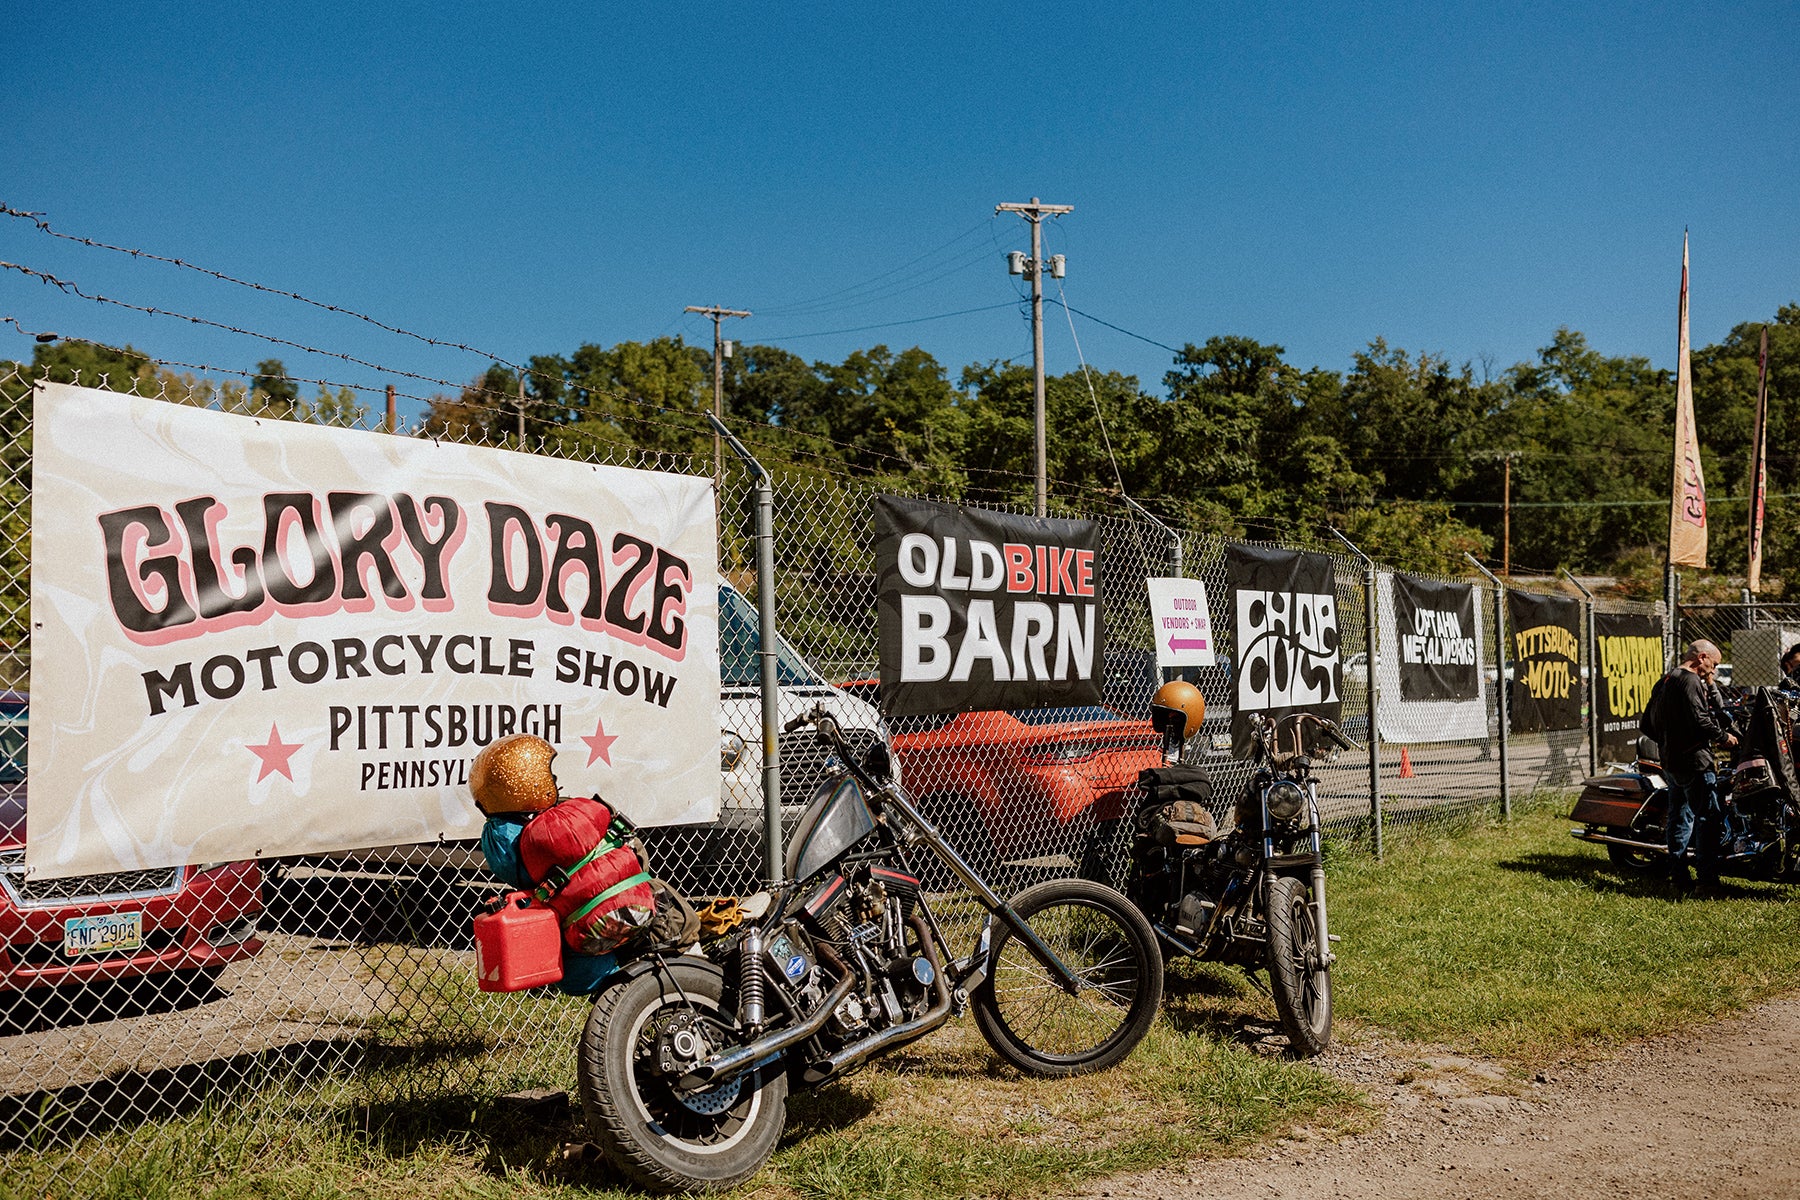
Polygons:
<instances>
[{"instance_id":1,"label":"man in black jacket and jeans standing by touring motorcycle","mask_svg":"<svg viewBox=\"0 0 1800 1200\"><path fill-rule=\"evenodd\" d=\"M1654 716L1652 738L1663 750L1663 770L1669 774L1669 878L1685 885L1687 847L1694 846L1696 867L1703 887L1719 882L1719 777L1714 772L1712 743L1737 745L1737 738L1719 725L1710 691L1714 671L1719 669L1719 648L1708 640L1688 646L1674 671L1665 675L1645 714ZM1697 828L1696 828L1697 824Z\"/></svg>"}]
</instances>

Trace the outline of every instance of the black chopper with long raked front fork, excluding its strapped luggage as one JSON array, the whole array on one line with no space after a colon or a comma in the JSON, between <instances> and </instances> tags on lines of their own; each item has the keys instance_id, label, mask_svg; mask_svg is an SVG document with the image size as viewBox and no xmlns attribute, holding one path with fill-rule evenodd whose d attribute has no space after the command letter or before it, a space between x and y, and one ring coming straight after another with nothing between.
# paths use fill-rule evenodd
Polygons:
<instances>
[{"instance_id":1,"label":"black chopper with long raked front fork, excluding its strapped luggage","mask_svg":"<svg viewBox=\"0 0 1800 1200\"><path fill-rule=\"evenodd\" d=\"M887 777L886 747L859 763L824 709L787 729L803 725L842 770L794 829L788 883L698 950L628 964L581 1034L589 1128L652 1191L749 1178L776 1148L790 1088L958 1013L1019 1070L1075 1076L1125 1058L1163 997L1156 934L1121 894L1071 878L999 898ZM959 957L913 867L922 855L986 910Z\"/></svg>"}]
</instances>

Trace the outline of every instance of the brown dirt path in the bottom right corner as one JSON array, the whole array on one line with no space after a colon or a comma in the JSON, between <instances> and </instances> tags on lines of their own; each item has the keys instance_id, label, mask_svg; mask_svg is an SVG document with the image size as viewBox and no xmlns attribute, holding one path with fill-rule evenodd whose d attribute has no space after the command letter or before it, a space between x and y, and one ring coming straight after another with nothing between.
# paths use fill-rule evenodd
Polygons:
<instances>
[{"instance_id":1,"label":"brown dirt path in the bottom right corner","mask_svg":"<svg viewBox=\"0 0 1800 1200\"><path fill-rule=\"evenodd\" d=\"M1247 1159L1112 1178L1084 1196L1199 1200L1633 1200L1800 1196L1800 995L1552 1067L1357 1038L1319 1060L1382 1108L1337 1142L1305 1132Z\"/></svg>"}]
</instances>

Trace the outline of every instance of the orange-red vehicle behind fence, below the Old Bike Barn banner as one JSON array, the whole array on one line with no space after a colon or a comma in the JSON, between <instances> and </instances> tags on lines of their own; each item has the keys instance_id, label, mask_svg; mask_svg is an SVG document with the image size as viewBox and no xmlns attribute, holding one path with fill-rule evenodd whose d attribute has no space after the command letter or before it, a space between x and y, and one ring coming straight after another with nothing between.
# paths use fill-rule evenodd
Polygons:
<instances>
[{"instance_id":1,"label":"orange-red vehicle behind fence, below the Old Bike Barn banner","mask_svg":"<svg viewBox=\"0 0 1800 1200\"><path fill-rule=\"evenodd\" d=\"M869 703L877 687L842 685ZM1125 815L1138 772L1163 765L1150 721L1103 705L900 716L889 727L907 792L981 871L1078 860L1100 822Z\"/></svg>"}]
</instances>

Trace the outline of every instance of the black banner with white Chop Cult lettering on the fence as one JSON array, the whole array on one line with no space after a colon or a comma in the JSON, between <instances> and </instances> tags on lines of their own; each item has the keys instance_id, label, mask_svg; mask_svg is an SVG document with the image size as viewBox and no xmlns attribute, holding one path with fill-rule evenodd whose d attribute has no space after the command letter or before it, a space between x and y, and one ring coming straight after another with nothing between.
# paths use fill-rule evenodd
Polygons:
<instances>
[{"instance_id":1,"label":"black banner with white Chop Cult lettering on the fence","mask_svg":"<svg viewBox=\"0 0 1800 1200\"><path fill-rule=\"evenodd\" d=\"M1343 714L1337 585L1325 554L1226 545L1233 608L1231 747L1249 752L1253 714Z\"/></svg>"}]
</instances>

